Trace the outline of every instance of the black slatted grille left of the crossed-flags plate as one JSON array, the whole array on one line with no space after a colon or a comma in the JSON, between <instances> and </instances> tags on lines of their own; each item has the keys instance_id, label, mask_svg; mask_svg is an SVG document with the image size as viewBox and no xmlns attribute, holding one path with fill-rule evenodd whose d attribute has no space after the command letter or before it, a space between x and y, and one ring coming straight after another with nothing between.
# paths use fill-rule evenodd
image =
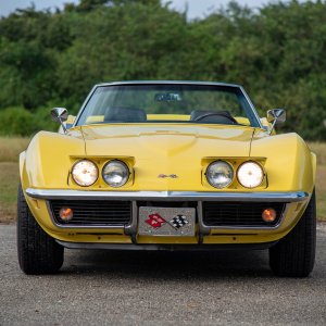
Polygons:
<instances>
[{"instance_id":1,"label":"black slatted grille left of the crossed-flags plate","mask_svg":"<svg viewBox=\"0 0 326 326\"><path fill-rule=\"evenodd\" d=\"M54 221L67 226L116 226L128 225L131 221L130 201L52 200L50 208ZM73 210L73 220L64 222L60 218L59 212L62 208Z\"/></svg>"}]
</instances>

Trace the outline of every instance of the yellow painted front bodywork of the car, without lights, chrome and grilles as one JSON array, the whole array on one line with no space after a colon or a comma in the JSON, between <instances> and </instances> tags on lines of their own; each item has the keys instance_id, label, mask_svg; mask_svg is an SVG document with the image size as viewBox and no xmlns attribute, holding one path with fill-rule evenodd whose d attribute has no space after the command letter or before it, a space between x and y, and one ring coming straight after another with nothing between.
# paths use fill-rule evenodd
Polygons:
<instances>
[{"instance_id":1,"label":"yellow painted front bodywork of the car, without lights, chrome and grilles","mask_svg":"<svg viewBox=\"0 0 326 326\"><path fill-rule=\"evenodd\" d=\"M154 118L154 117L153 117ZM243 121L244 123L244 121ZM121 188L111 188L99 176L87 188L77 186L71 168L79 159L93 161L99 170L110 160L124 161L131 174ZM264 183L246 189L235 180L226 189L213 188L204 176L210 162L227 160L235 168L244 161L259 161L265 170ZM201 125L189 123L98 124L75 127L67 135L41 131L21 154L23 189L77 189L99 191L305 191L312 193L316 160L296 134L268 136L249 126ZM176 174L177 178L158 178ZM130 243L123 229L62 229L49 215L46 201L26 198L41 227L52 237L73 242ZM284 223L275 230L212 229L204 243L256 243L284 237L302 215L291 204ZM102 234L95 236L93 234ZM111 233L111 234L110 234ZM236 234L236 236L235 236ZM192 238L139 237L141 243L197 243Z\"/></svg>"}]
</instances>

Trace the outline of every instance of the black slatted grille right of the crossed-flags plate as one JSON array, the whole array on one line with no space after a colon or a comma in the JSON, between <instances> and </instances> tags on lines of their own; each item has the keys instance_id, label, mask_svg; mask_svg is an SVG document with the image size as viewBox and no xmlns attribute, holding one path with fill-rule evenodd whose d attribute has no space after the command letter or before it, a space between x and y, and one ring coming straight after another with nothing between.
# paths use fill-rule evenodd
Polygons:
<instances>
[{"instance_id":1,"label":"black slatted grille right of the crossed-flags plate","mask_svg":"<svg viewBox=\"0 0 326 326\"><path fill-rule=\"evenodd\" d=\"M265 209L274 209L277 217L267 223L262 220ZM240 227L271 227L279 223L285 209L280 202L203 202L203 222L208 226L240 226Z\"/></svg>"}]
</instances>

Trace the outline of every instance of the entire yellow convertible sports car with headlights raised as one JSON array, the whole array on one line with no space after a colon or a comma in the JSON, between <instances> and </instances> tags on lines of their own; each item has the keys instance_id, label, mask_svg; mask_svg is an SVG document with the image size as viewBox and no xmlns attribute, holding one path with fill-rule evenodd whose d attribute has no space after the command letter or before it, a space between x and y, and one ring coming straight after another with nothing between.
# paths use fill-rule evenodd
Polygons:
<instances>
[{"instance_id":1,"label":"entire yellow convertible sports car with headlights raised","mask_svg":"<svg viewBox=\"0 0 326 326\"><path fill-rule=\"evenodd\" d=\"M51 111L20 156L17 249L26 274L64 248L266 249L277 276L306 277L316 239L316 156L281 109L260 118L241 86L93 87L76 117Z\"/></svg>"}]
</instances>

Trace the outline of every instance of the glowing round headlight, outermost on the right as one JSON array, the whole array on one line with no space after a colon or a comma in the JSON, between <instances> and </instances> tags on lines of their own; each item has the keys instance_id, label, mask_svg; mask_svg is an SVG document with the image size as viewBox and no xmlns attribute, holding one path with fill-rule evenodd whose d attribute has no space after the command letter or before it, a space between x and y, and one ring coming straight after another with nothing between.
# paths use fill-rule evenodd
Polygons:
<instances>
[{"instance_id":1,"label":"glowing round headlight, outermost on the right","mask_svg":"<svg viewBox=\"0 0 326 326\"><path fill-rule=\"evenodd\" d=\"M246 188L254 188L262 184L264 171L255 162L242 163L237 172L239 183Z\"/></svg>"}]
</instances>

